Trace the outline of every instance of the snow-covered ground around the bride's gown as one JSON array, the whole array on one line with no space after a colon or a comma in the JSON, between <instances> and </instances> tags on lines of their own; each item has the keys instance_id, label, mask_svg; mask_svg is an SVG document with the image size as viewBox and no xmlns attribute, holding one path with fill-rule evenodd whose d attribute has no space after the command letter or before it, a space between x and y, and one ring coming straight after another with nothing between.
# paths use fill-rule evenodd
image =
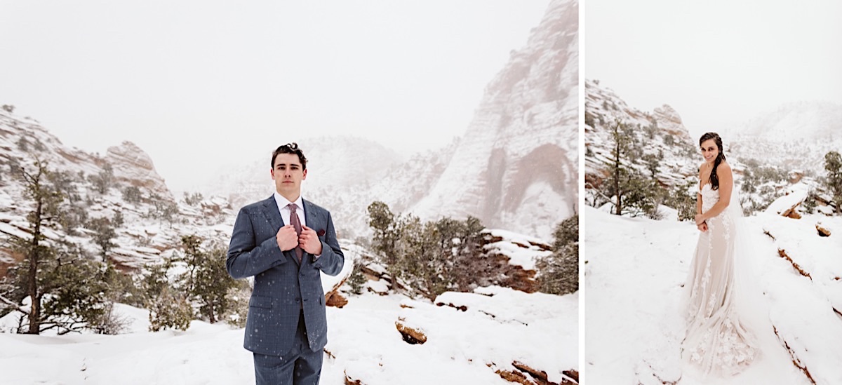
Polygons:
<instances>
[{"instance_id":1,"label":"snow-covered ground around the bride's gown","mask_svg":"<svg viewBox=\"0 0 842 385\"><path fill-rule=\"evenodd\" d=\"M685 333L681 285L698 230L690 222L583 210L588 385L842 383L842 218L746 219L751 252L744 257L754 266L761 295L752 320L761 356L735 377L706 378L679 357ZM817 223L832 235L818 236Z\"/></svg>"}]
</instances>

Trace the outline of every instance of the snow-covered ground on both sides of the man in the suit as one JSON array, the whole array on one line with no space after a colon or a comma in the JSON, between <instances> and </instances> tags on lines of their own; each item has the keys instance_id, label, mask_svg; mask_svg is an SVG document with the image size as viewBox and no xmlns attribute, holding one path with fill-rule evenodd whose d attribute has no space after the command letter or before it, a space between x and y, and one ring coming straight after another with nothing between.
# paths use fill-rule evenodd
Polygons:
<instances>
[{"instance_id":1,"label":"snow-covered ground on both sides of the man in the suit","mask_svg":"<svg viewBox=\"0 0 842 385\"><path fill-rule=\"evenodd\" d=\"M495 371L516 370L514 361L546 371L553 382L578 370L578 294L477 292L442 294L443 306L365 293L342 309L328 308L330 354L321 383L344 384L347 373L367 385L507 384ZM151 333L145 310L118 311L132 320L122 335L0 333L0 383L254 383L242 329L193 321L187 331ZM426 343L404 342L398 319L423 331Z\"/></svg>"}]
</instances>

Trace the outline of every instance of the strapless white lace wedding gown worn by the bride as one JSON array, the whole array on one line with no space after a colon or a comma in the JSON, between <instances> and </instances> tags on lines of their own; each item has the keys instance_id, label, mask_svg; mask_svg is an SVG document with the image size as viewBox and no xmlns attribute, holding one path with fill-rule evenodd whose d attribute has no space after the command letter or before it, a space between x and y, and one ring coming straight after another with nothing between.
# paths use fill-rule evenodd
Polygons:
<instances>
[{"instance_id":1,"label":"strapless white lace wedding gown worn by the bride","mask_svg":"<svg viewBox=\"0 0 842 385\"><path fill-rule=\"evenodd\" d=\"M701 189L702 212L719 201L719 191L709 183ZM736 374L754 360L751 335L738 318L734 297L735 218L724 210L707 220L699 235L685 287L687 334L682 356L706 373Z\"/></svg>"}]
</instances>

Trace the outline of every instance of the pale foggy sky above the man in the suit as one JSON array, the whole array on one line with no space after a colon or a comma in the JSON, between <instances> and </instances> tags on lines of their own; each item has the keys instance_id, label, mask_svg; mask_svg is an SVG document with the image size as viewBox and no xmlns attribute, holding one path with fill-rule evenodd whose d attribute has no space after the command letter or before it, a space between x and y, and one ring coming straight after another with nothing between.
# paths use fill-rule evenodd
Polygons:
<instances>
[{"instance_id":1,"label":"pale foggy sky above the man in the suit","mask_svg":"<svg viewBox=\"0 0 842 385\"><path fill-rule=\"evenodd\" d=\"M301 138L461 135L547 0L0 0L0 103L66 145L130 140L168 186Z\"/></svg>"}]
</instances>

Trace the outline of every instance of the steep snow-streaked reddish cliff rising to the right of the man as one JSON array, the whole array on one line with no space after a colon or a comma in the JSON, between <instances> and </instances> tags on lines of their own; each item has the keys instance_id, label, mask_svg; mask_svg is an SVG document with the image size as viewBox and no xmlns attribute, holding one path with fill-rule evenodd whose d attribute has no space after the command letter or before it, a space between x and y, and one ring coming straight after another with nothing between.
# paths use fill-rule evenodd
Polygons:
<instances>
[{"instance_id":1,"label":"steep snow-streaked reddish cliff rising to the right of the man","mask_svg":"<svg viewBox=\"0 0 842 385\"><path fill-rule=\"evenodd\" d=\"M552 1L486 87L450 163L413 212L471 214L489 227L516 224L510 228L549 238L577 202L577 84L578 3Z\"/></svg>"}]
</instances>

